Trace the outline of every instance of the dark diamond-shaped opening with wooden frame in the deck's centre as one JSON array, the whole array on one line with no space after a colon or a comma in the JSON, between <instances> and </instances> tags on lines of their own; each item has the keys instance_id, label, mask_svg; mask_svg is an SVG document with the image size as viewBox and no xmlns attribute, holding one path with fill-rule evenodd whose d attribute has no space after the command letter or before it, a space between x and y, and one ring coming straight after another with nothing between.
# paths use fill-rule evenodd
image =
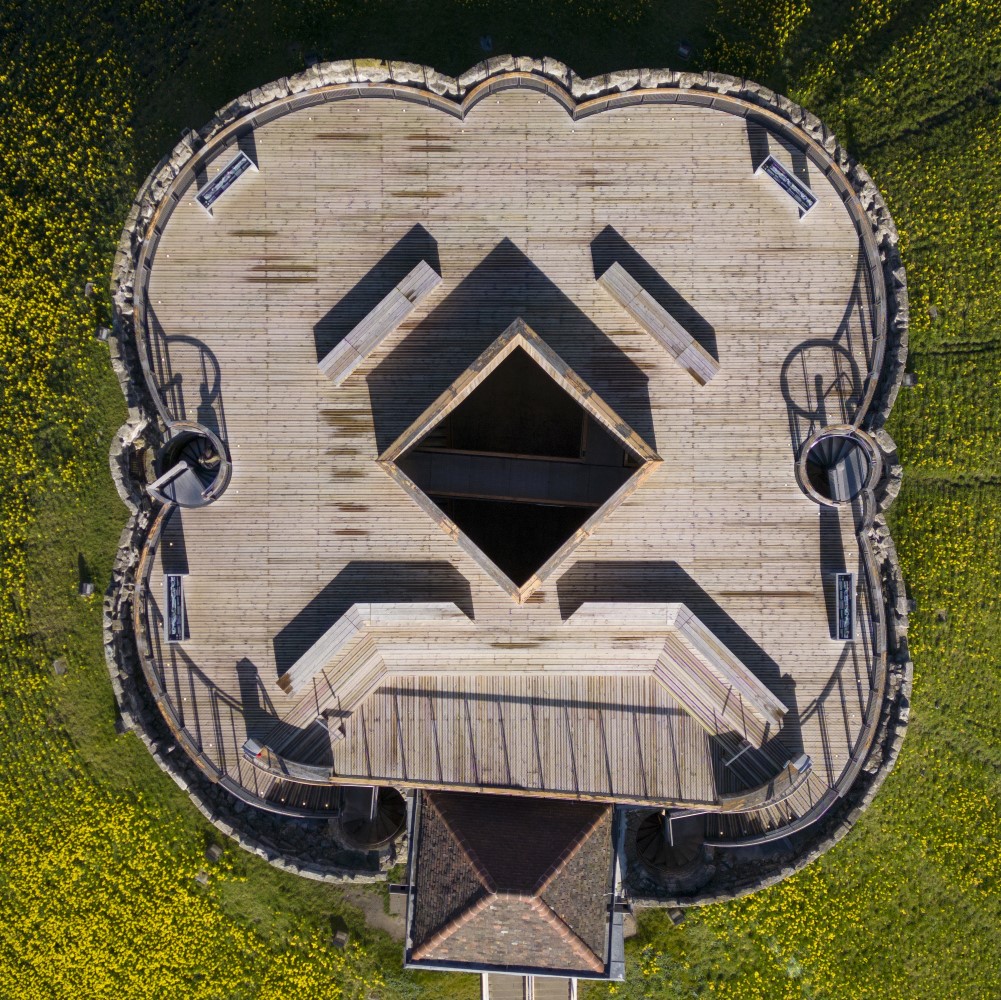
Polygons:
<instances>
[{"instance_id":1,"label":"dark diamond-shaped opening with wooden frame in the deck's centre","mask_svg":"<svg viewBox=\"0 0 1001 1000\"><path fill-rule=\"evenodd\" d=\"M518 320L380 460L524 601L660 458Z\"/></svg>"}]
</instances>

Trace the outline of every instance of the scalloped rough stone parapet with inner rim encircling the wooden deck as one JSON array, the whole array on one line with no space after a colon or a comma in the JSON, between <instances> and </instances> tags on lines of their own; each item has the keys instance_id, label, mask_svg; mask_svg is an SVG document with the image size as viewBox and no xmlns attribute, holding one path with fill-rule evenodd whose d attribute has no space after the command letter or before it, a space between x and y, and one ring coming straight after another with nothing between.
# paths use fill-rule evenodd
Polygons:
<instances>
[{"instance_id":1,"label":"scalloped rough stone parapet with inner rim encircling the wooden deck","mask_svg":"<svg viewBox=\"0 0 1001 1000\"><path fill-rule=\"evenodd\" d=\"M666 896L636 897L636 905L692 905L736 895L771 885L828 850L851 828L860 811L893 767L909 715L912 667L907 652L907 604L892 540L886 531L883 512L899 490L900 464L896 449L885 435L883 426L896 399L907 355L908 299L907 283L899 254L899 236L876 185L839 144L837 137L817 118L788 98L753 81L722 73L678 72L671 69L621 70L595 77L580 77L569 67L551 58L495 56L476 64L458 77L451 77L429 67L407 62L375 59L339 60L319 63L282 77L228 102L198 131L186 133L171 152L150 172L128 212L112 267L111 292L115 312L113 336L109 340L112 366L122 385L128 404L128 421L112 441L109 454L112 476L123 503L130 511L122 533L115 561L112 584L105 598L105 654L115 697L122 720L146 744L157 764L171 776L210 822L241 846L276 867L295 871L309 878L325 881L371 881L381 875L370 868L368 859L348 857L331 837L315 836L296 841L283 836L281 829L294 830L298 821L275 818L237 800L199 772L182 752L171 750L172 740L145 688L138 664L136 638L131 629L131 602L136 584L139 553L152 523L153 510L145 491L148 476L138 469L148 464L150 449L162 440L166 429L163 405L155 387L145 377L139 351L144 350L141 302L143 298L144 257L155 245L157 227L162 227L172 207L170 195L178 178L186 171L235 141L240 129L253 127L256 116L273 117L302 106L302 102L336 99L341 96L364 96L412 90L420 99L444 108L461 118L480 99L487 87L535 81L560 94L571 114L587 113L589 101L615 98L620 105L643 100L657 92L675 92L680 100L700 95L719 99L721 107L730 101L742 102L743 114L769 116L776 128L789 130L798 142L815 143L818 156L826 156L832 169L840 172L846 185L845 196L852 197L865 220L863 243L875 247L885 287L885 332L879 344L880 370L870 402L858 417L858 424L872 433L883 451L884 476L876 485L877 513L870 528L869 541L882 578L886 602L886 638L888 647L887 688L881 706L879 726L872 749L855 784L816 827L797 835L791 852L777 851L767 861L744 863L738 852L717 851L707 861L713 869L709 882L695 890L696 895L669 899ZM484 86L485 85L485 86ZM557 91L555 88L560 88ZM857 222L857 224L859 224ZM137 308L137 304L140 306ZM311 829L311 828L310 828ZM320 843L322 848L303 847L304 841ZM378 867L387 863L381 857Z\"/></svg>"}]
</instances>

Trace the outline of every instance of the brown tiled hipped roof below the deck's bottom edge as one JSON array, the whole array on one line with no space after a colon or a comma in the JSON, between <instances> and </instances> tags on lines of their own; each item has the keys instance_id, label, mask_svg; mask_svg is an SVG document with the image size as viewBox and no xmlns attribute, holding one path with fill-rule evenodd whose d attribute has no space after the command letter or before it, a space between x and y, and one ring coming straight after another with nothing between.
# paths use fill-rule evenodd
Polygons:
<instances>
[{"instance_id":1,"label":"brown tiled hipped roof below the deck's bottom edge","mask_svg":"<svg viewBox=\"0 0 1001 1000\"><path fill-rule=\"evenodd\" d=\"M601 972L612 808L424 793L411 961Z\"/></svg>"}]
</instances>

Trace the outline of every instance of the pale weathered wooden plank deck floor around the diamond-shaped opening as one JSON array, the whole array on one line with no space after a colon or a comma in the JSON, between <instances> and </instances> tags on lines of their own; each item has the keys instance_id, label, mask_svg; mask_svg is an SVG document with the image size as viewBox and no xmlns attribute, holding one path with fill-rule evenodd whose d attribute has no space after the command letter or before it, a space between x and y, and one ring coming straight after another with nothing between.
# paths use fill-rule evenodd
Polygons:
<instances>
[{"instance_id":1,"label":"pale weathered wooden plank deck floor around the diamond-shaped opening","mask_svg":"<svg viewBox=\"0 0 1001 1000\"><path fill-rule=\"evenodd\" d=\"M319 105L252 146L259 171L211 217L193 186L182 196L148 292L162 396L233 465L217 503L175 513L151 581L155 601L160 570L188 573L190 638L158 656L204 753L252 788L241 745L296 710L276 679L347 607L454 601L471 636L397 637L426 678L385 685L348 721L323 749L341 773L705 801L713 754L668 696L574 678L625 651L656 661L656 640L569 643L563 624L584 601L681 602L790 708L790 753L836 780L868 668L863 643L830 639L825 575L857 571L858 548L850 513L822 517L797 486L794 448L861 395L871 319L859 241L825 178L811 170L820 203L800 221L754 175L739 118L650 105L575 122L524 90L464 121L390 99ZM775 136L771 151L797 165ZM434 295L344 384L324 378L317 359L428 255ZM709 384L601 288L596 259L648 276L718 357ZM524 606L375 462L518 316L664 458ZM619 741L608 758L599 725ZM505 743L527 755L518 781Z\"/></svg>"}]
</instances>

